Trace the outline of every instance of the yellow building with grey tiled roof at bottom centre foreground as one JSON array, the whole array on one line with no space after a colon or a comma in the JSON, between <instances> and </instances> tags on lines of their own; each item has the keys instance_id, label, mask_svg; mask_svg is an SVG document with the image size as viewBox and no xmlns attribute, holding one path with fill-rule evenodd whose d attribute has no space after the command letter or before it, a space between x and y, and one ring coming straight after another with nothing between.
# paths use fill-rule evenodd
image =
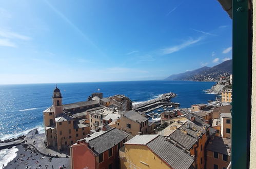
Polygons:
<instances>
[{"instance_id":1,"label":"yellow building with grey tiled roof at bottom centre foreground","mask_svg":"<svg viewBox=\"0 0 256 169\"><path fill-rule=\"evenodd\" d=\"M194 168L195 159L182 147L161 135L136 135L120 149L125 168Z\"/></svg>"}]
</instances>

